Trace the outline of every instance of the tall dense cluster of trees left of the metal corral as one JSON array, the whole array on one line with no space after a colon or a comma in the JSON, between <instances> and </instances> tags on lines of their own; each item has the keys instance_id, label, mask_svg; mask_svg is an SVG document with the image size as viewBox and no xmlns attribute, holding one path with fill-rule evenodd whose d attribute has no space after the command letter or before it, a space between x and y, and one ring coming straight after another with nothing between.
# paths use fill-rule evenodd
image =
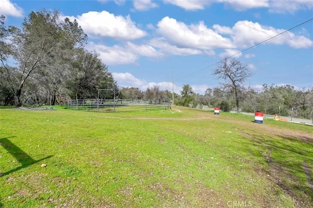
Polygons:
<instances>
[{"instance_id":1,"label":"tall dense cluster of trees left of the metal corral","mask_svg":"<svg viewBox=\"0 0 313 208\"><path fill-rule=\"evenodd\" d=\"M31 12L20 28L5 26L1 16L1 104L64 104L95 98L98 89L118 92L108 67L86 43L77 21L61 20L58 11Z\"/></svg>"}]
</instances>

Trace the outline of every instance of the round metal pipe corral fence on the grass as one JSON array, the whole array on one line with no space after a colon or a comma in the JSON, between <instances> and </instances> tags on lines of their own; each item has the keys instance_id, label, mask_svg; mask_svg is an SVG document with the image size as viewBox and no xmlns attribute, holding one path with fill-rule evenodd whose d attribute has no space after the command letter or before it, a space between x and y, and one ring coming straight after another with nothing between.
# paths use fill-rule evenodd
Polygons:
<instances>
[{"instance_id":1,"label":"round metal pipe corral fence on the grass","mask_svg":"<svg viewBox=\"0 0 313 208\"><path fill-rule=\"evenodd\" d=\"M84 99L68 100L68 109L93 112L156 111L171 108L169 99Z\"/></svg>"}]
</instances>

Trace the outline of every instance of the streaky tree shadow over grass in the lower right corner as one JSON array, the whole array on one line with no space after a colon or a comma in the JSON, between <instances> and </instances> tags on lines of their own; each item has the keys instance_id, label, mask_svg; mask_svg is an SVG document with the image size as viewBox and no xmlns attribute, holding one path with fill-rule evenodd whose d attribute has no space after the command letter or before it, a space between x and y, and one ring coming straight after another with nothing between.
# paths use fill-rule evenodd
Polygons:
<instances>
[{"instance_id":1,"label":"streaky tree shadow over grass in the lower right corner","mask_svg":"<svg viewBox=\"0 0 313 208\"><path fill-rule=\"evenodd\" d=\"M287 193L297 207L313 204L312 141L282 135L246 133L244 137L247 140L242 142L242 148L251 151L252 145L254 150L261 152L268 163L265 171L270 180Z\"/></svg>"}]
</instances>

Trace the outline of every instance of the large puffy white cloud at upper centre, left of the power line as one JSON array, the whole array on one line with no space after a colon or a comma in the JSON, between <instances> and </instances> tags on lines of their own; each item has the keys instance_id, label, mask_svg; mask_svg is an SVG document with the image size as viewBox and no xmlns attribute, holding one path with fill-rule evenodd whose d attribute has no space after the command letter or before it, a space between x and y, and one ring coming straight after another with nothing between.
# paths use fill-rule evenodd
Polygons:
<instances>
[{"instance_id":1,"label":"large puffy white cloud at upper centre, left of the power line","mask_svg":"<svg viewBox=\"0 0 313 208\"><path fill-rule=\"evenodd\" d=\"M233 48L230 39L223 38L215 31L204 25L203 21L198 24L187 26L176 19L165 17L157 23L157 31L171 44L180 48L213 49Z\"/></svg>"}]
</instances>

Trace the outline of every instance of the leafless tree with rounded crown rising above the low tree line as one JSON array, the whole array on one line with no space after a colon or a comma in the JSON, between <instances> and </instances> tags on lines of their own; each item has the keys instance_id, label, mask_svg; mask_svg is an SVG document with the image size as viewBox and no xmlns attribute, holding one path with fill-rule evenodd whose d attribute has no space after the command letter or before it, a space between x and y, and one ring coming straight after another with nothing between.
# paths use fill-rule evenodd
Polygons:
<instances>
[{"instance_id":1,"label":"leafless tree with rounded crown rising above the low tree line","mask_svg":"<svg viewBox=\"0 0 313 208\"><path fill-rule=\"evenodd\" d=\"M245 88L245 81L252 75L247 65L237 59L225 57L214 70L213 75L216 75L218 79L223 79L224 88L234 93L237 112L240 112L241 94Z\"/></svg>"}]
</instances>

